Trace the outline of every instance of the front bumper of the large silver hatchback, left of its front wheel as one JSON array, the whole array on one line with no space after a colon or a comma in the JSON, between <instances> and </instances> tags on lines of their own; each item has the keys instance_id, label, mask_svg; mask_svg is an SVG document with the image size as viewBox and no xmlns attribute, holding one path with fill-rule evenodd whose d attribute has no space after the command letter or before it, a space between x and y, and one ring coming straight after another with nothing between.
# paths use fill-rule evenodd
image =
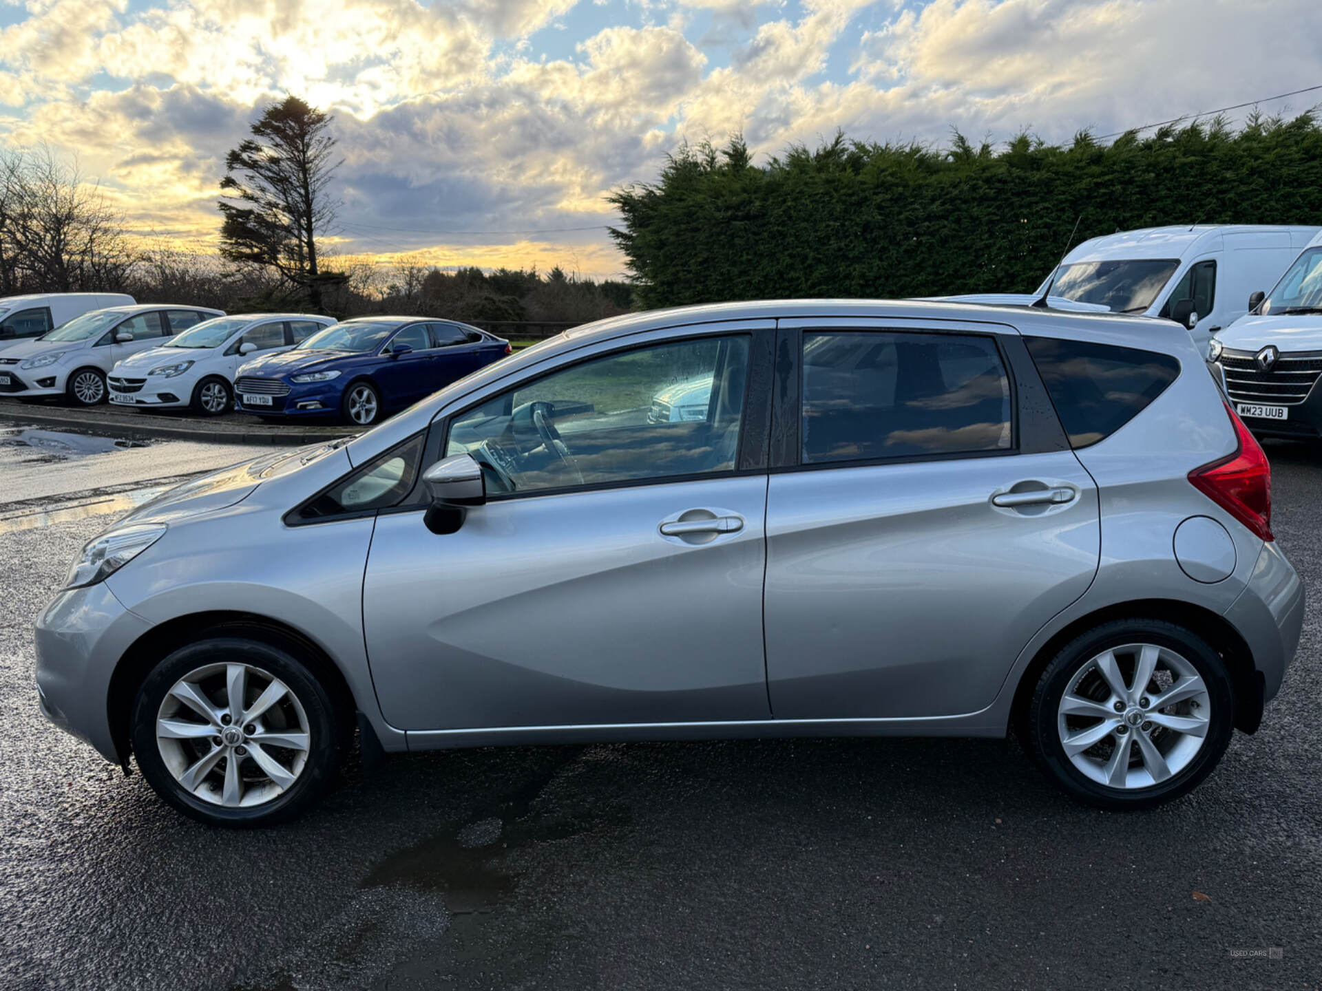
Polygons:
<instances>
[{"instance_id":1,"label":"front bumper of the large silver hatchback, left of its front wheel","mask_svg":"<svg viewBox=\"0 0 1322 991\"><path fill-rule=\"evenodd\" d=\"M110 679L119 658L149 629L104 581L61 592L37 620L41 711L115 764L123 754L110 725Z\"/></svg>"}]
</instances>

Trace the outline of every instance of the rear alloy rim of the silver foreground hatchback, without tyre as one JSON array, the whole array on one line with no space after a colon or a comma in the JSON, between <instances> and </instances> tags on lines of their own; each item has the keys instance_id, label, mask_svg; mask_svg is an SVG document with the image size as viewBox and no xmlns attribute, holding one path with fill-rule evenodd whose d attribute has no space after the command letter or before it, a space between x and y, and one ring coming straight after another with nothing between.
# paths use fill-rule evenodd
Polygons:
<instances>
[{"instance_id":1,"label":"rear alloy rim of the silver foreground hatchback, without tyre","mask_svg":"<svg viewBox=\"0 0 1322 991\"><path fill-rule=\"evenodd\" d=\"M1066 757L1107 788L1169 781L1190 765L1211 725L1202 675L1155 643L1103 650L1079 667L1060 696L1056 732Z\"/></svg>"}]
</instances>

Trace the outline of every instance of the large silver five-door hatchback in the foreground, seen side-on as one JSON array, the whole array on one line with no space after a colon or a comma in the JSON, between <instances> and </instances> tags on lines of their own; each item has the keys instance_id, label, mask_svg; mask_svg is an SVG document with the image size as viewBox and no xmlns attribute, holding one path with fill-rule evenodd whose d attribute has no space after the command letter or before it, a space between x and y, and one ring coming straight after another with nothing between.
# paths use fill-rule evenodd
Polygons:
<instances>
[{"instance_id":1,"label":"large silver five-door hatchback in the foreground, seen side-on","mask_svg":"<svg viewBox=\"0 0 1322 991\"><path fill-rule=\"evenodd\" d=\"M305 809L354 732L1013 728L1140 809L1257 728L1302 614L1266 459L1183 328L742 303L579 328L167 493L73 564L37 688L225 826Z\"/></svg>"}]
</instances>

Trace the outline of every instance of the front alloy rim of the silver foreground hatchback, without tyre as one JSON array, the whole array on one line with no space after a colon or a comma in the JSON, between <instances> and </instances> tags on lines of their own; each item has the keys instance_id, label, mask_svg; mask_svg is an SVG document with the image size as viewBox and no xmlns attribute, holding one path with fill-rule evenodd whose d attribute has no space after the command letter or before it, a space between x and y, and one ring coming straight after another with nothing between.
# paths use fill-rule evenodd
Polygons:
<instances>
[{"instance_id":1,"label":"front alloy rim of the silver foreground hatchback, without tyre","mask_svg":"<svg viewBox=\"0 0 1322 991\"><path fill-rule=\"evenodd\" d=\"M156 715L156 744L185 791L229 809L284 794L311 752L303 703L272 674L243 663L180 678Z\"/></svg>"}]
</instances>

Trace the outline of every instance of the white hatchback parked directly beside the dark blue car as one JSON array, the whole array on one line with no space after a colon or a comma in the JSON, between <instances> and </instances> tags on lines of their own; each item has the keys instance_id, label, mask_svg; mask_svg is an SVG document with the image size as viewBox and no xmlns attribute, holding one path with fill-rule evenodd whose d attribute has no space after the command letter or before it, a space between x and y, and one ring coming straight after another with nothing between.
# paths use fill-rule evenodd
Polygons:
<instances>
[{"instance_id":1,"label":"white hatchback parked directly beside the dark blue car","mask_svg":"<svg viewBox=\"0 0 1322 991\"><path fill-rule=\"evenodd\" d=\"M137 408L190 406L217 416L234 406L241 362L283 351L330 326L312 313L245 313L217 317L134 354L110 373L110 402Z\"/></svg>"}]
</instances>

